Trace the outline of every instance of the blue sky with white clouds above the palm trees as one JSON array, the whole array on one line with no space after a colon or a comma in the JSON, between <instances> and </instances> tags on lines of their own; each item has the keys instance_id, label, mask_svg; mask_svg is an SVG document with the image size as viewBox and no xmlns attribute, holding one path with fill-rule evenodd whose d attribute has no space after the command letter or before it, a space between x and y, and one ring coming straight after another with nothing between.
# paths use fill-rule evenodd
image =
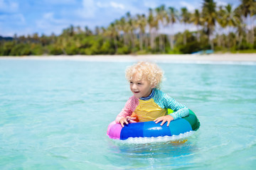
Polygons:
<instances>
[{"instance_id":1,"label":"blue sky with white clouds above the palm trees","mask_svg":"<svg viewBox=\"0 0 256 170\"><path fill-rule=\"evenodd\" d=\"M237 6L240 0L215 0L217 5ZM148 12L161 4L193 11L203 0L0 0L0 35L60 34L63 28L108 26L128 11L133 15ZM176 28L178 29L178 28Z\"/></svg>"}]
</instances>

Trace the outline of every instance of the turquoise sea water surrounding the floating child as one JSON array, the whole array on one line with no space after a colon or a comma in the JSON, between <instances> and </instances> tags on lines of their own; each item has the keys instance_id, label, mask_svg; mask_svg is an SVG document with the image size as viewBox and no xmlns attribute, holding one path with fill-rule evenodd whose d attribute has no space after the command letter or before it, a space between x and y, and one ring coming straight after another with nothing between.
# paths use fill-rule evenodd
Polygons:
<instances>
[{"instance_id":1,"label":"turquoise sea water surrounding the floating child","mask_svg":"<svg viewBox=\"0 0 256 170\"><path fill-rule=\"evenodd\" d=\"M0 169L255 169L256 64L159 63L161 89L201 128L183 144L125 144L107 125L132 62L0 60Z\"/></svg>"}]
</instances>

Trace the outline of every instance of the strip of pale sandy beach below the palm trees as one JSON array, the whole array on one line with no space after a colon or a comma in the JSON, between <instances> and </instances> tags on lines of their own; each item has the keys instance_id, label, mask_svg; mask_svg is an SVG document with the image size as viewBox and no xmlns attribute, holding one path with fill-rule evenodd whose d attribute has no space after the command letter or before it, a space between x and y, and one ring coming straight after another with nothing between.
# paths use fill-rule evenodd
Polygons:
<instances>
[{"instance_id":1,"label":"strip of pale sandy beach below the palm trees","mask_svg":"<svg viewBox=\"0 0 256 170\"><path fill-rule=\"evenodd\" d=\"M22 56L0 57L0 60L82 60L91 62L151 62L173 63L223 63L223 64L256 64L256 53L253 54L211 54L211 55L58 55L58 56Z\"/></svg>"}]
</instances>

